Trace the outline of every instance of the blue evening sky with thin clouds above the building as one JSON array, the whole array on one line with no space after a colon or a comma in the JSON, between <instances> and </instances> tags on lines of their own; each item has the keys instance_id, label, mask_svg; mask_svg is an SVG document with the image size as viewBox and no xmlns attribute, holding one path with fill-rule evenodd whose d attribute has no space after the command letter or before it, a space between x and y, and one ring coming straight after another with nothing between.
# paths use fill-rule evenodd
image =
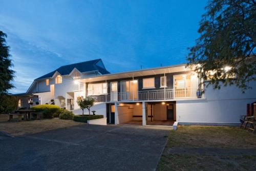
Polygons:
<instances>
[{"instance_id":1,"label":"blue evening sky with thin clouds above the building","mask_svg":"<svg viewBox=\"0 0 256 171\"><path fill-rule=\"evenodd\" d=\"M15 89L60 66L101 58L111 73L186 62L205 0L1 1L0 30L16 71Z\"/></svg>"}]
</instances>

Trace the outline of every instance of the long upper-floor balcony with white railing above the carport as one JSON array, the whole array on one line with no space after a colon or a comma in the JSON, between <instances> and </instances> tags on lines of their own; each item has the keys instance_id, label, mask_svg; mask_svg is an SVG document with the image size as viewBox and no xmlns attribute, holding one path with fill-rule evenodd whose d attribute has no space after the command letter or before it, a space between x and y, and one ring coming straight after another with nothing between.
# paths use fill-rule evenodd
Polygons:
<instances>
[{"instance_id":1,"label":"long upper-floor balcony with white railing above the carport","mask_svg":"<svg viewBox=\"0 0 256 171\"><path fill-rule=\"evenodd\" d=\"M150 101L150 100L170 100L170 99L189 99L197 98L197 90L186 89L167 89L167 90L151 90L138 92L119 92L108 93L105 95L91 96L96 102L108 101ZM113 100L116 99L116 100Z\"/></svg>"}]
</instances>

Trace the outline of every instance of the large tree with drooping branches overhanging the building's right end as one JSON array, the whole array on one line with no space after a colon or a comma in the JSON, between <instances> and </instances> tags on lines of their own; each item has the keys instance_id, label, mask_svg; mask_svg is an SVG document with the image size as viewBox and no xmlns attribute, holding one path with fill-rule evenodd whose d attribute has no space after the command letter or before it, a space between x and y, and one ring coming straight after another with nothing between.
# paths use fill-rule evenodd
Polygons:
<instances>
[{"instance_id":1,"label":"large tree with drooping branches overhanging the building's right end","mask_svg":"<svg viewBox=\"0 0 256 171\"><path fill-rule=\"evenodd\" d=\"M256 4L253 0L211 0L206 6L188 66L214 89L235 84L245 92L256 80Z\"/></svg>"}]
</instances>

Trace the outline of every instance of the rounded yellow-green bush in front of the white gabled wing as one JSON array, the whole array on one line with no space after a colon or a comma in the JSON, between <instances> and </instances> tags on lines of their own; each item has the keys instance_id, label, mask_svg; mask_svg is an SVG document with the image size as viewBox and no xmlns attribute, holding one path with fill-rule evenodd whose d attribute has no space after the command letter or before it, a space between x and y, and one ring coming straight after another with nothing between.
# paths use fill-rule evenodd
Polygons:
<instances>
[{"instance_id":1,"label":"rounded yellow-green bush in front of the white gabled wing","mask_svg":"<svg viewBox=\"0 0 256 171\"><path fill-rule=\"evenodd\" d=\"M44 113L44 118L53 118L54 114L60 111L59 106L53 104L34 105L31 109Z\"/></svg>"}]
</instances>

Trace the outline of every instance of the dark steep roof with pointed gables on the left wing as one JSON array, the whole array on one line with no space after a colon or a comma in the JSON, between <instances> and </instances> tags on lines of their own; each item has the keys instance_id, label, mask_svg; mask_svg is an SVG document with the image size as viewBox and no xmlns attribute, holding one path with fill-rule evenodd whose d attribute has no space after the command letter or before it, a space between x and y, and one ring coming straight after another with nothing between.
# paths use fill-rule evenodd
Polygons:
<instances>
[{"instance_id":1,"label":"dark steep roof with pointed gables on the left wing","mask_svg":"<svg viewBox=\"0 0 256 171\"><path fill-rule=\"evenodd\" d=\"M96 65L96 63L99 62L100 60L101 59L95 59L95 60L89 60L89 61L80 62L80 63L73 63L73 64L67 65L67 66L62 66L62 67L59 67L57 70L54 70L46 75L36 78L36 79L52 77L56 71L58 71L58 73L60 73L60 75L68 75L74 70L74 68L76 68L81 73L90 72L90 71L98 71L101 74L110 74L110 72L107 71L106 69Z\"/></svg>"}]
</instances>

